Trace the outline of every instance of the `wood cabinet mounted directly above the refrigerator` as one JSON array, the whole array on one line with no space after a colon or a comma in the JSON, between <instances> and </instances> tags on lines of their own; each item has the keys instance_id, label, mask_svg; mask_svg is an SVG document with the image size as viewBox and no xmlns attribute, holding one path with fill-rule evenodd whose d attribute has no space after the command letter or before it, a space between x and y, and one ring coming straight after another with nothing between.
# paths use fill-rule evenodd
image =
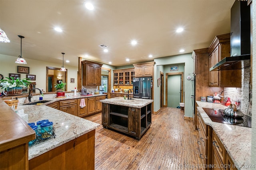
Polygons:
<instances>
[{"instance_id":1,"label":"wood cabinet mounted directly above the refrigerator","mask_svg":"<svg viewBox=\"0 0 256 170\"><path fill-rule=\"evenodd\" d=\"M154 61L134 65L135 77L152 77L154 75Z\"/></svg>"}]
</instances>

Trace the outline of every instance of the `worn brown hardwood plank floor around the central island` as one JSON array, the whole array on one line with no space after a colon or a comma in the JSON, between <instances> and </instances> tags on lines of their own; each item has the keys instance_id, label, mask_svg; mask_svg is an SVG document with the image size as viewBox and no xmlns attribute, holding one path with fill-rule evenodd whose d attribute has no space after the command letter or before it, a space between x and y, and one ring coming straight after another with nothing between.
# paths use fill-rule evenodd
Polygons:
<instances>
[{"instance_id":1,"label":"worn brown hardwood plank floor around the central island","mask_svg":"<svg viewBox=\"0 0 256 170\"><path fill-rule=\"evenodd\" d=\"M193 121L183 118L184 111L180 109L162 108L158 115L152 115L152 125L138 141L103 128L101 113L86 117L101 125L95 135L95 169L200 169L198 131L194 130Z\"/></svg>"}]
</instances>

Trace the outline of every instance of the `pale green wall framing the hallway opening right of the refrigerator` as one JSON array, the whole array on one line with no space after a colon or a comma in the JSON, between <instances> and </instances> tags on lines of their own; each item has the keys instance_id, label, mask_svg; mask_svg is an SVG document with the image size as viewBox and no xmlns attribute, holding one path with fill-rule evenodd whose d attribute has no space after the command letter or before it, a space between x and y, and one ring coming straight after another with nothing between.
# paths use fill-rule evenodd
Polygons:
<instances>
[{"instance_id":1,"label":"pale green wall framing the hallway opening right of the refrigerator","mask_svg":"<svg viewBox=\"0 0 256 170\"><path fill-rule=\"evenodd\" d=\"M183 54L183 55L175 55L170 57L162 57L154 59L156 64L154 65L154 111L158 111L160 109L160 86L157 86L157 79L160 77L160 71L164 70L164 68L157 67L160 65L171 65L178 63L185 63L184 66L184 103L185 103L185 115L186 117L192 117L192 103L191 103L191 95L192 86L190 80L187 80L186 77L191 75L193 72L193 59L191 58L192 53ZM164 72L164 71L162 71Z\"/></svg>"}]
</instances>

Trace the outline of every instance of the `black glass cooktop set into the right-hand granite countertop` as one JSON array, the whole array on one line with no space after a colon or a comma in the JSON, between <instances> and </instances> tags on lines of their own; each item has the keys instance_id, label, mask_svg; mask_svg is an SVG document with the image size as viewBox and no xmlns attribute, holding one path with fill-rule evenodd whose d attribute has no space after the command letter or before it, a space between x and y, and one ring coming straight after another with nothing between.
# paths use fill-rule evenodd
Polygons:
<instances>
[{"instance_id":1,"label":"black glass cooktop set into the right-hand granite countertop","mask_svg":"<svg viewBox=\"0 0 256 170\"><path fill-rule=\"evenodd\" d=\"M242 118L234 118L234 117L222 115L223 110L220 110L220 109L209 109L209 108L203 108L203 109L207 113L207 115L210 117L210 119L214 122L226 123L226 124L238 125L238 126L244 126L244 127L252 127L252 124L251 124L252 118L250 116L244 115Z\"/></svg>"}]
</instances>

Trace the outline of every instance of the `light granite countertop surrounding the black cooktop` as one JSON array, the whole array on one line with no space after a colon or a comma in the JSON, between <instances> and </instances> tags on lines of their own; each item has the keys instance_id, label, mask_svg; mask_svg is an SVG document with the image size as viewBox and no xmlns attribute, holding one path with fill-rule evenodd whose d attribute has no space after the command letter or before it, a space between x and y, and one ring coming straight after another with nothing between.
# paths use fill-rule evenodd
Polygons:
<instances>
[{"instance_id":1,"label":"light granite countertop surrounding the black cooktop","mask_svg":"<svg viewBox=\"0 0 256 170\"><path fill-rule=\"evenodd\" d=\"M196 103L203 121L216 132L234 164L240 169L249 169L247 166L250 166L251 160L252 128L213 122L202 107L225 109L227 106L200 101Z\"/></svg>"}]
</instances>

